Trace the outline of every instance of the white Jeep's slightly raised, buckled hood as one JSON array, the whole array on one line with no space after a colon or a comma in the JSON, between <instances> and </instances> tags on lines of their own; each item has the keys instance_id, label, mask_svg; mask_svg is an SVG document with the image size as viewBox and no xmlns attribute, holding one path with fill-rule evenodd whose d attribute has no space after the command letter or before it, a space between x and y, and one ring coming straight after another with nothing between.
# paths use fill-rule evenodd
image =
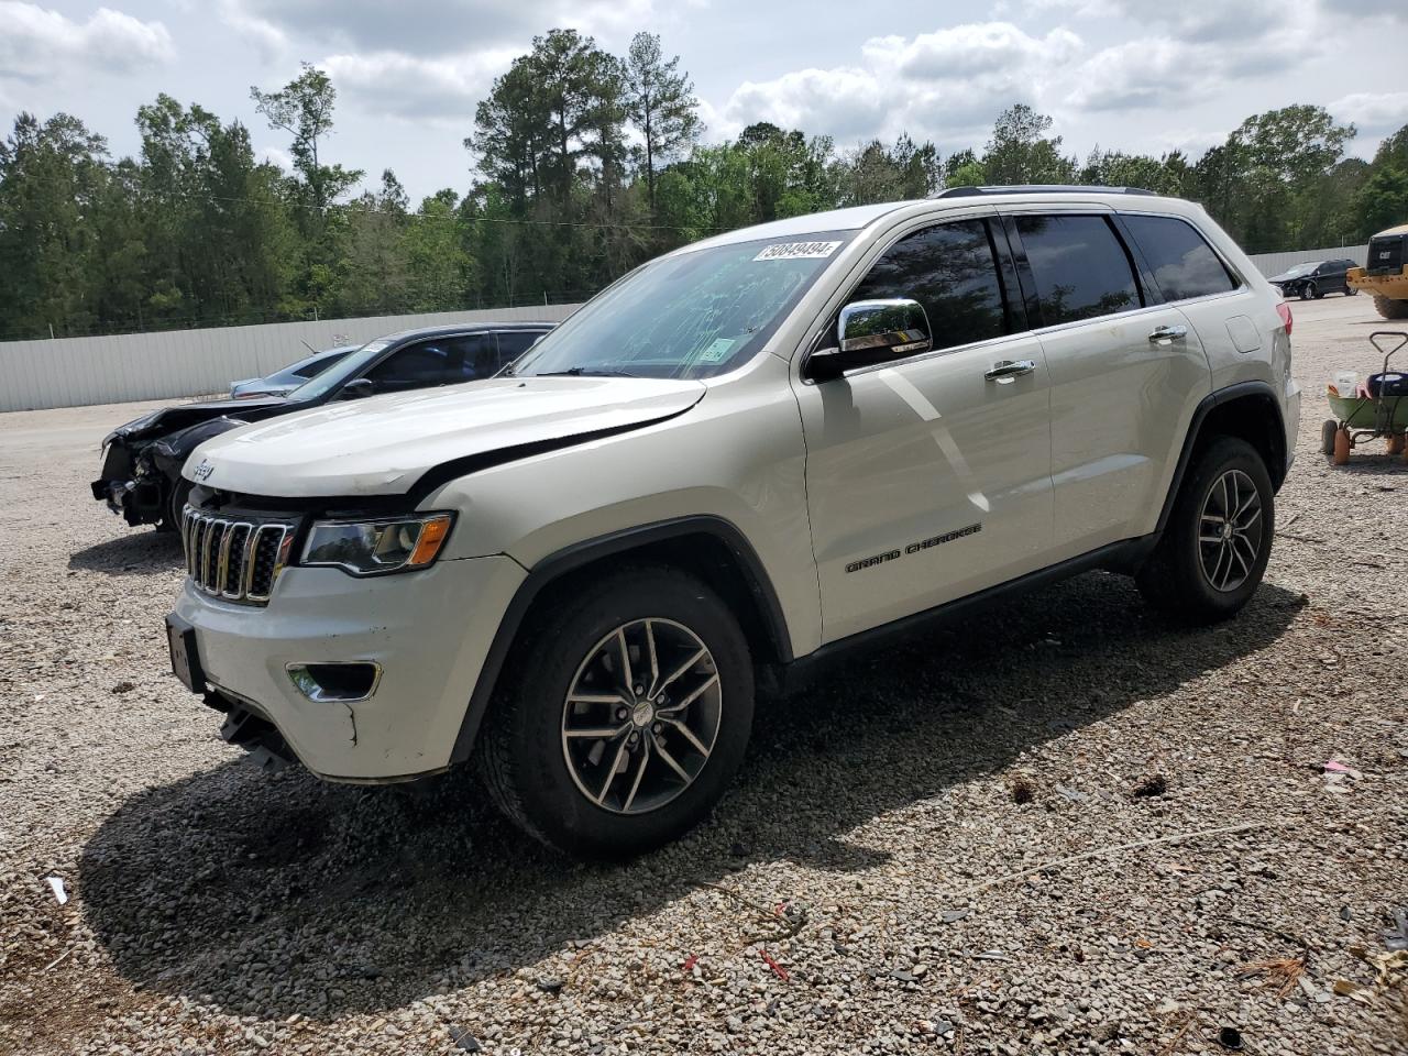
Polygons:
<instances>
[{"instance_id":1,"label":"white Jeep's slightly raised, buckled hood","mask_svg":"<svg viewBox=\"0 0 1408 1056\"><path fill-rule=\"evenodd\" d=\"M701 382L496 377L376 396L227 432L201 444L183 474L286 498L404 494L436 466L649 425L704 393Z\"/></svg>"}]
</instances>

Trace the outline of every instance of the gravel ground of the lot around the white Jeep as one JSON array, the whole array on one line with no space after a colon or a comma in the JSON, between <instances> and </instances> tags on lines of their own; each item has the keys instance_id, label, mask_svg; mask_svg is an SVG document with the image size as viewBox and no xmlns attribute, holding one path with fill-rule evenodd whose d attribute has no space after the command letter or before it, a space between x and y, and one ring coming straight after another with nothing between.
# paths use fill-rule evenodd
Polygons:
<instances>
[{"instance_id":1,"label":"gravel ground of the lot around the white Jeep","mask_svg":"<svg viewBox=\"0 0 1408 1056\"><path fill-rule=\"evenodd\" d=\"M914 641L762 707L715 817L611 869L472 781L244 765L168 672L176 542L87 497L144 408L0 415L0 1052L1408 1052L1366 960L1408 905L1408 467L1316 453L1369 298L1295 313L1238 621L1090 574Z\"/></svg>"}]
</instances>

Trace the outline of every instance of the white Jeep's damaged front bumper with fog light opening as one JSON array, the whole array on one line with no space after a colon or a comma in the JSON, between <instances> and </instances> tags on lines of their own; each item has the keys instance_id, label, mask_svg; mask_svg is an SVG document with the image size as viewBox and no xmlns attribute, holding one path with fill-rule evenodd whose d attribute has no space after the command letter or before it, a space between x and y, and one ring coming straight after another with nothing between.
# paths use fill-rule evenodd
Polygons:
<instances>
[{"instance_id":1,"label":"white Jeep's damaged front bumper with fog light opening","mask_svg":"<svg viewBox=\"0 0 1408 1056\"><path fill-rule=\"evenodd\" d=\"M225 712L222 736L259 763L297 759L327 780L406 781L449 766L525 574L507 556L372 579L291 566L262 607L211 597L187 579L170 620L193 631L204 683L194 689ZM348 669L339 684L328 667ZM358 686L363 667L375 677Z\"/></svg>"}]
</instances>

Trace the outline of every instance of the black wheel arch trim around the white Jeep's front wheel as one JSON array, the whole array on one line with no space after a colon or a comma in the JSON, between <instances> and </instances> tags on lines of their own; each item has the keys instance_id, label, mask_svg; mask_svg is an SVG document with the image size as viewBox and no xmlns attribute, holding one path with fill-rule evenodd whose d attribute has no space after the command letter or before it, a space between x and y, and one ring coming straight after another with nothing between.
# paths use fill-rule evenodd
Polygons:
<instances>
[{"instance_id":1,"label":"black wheel arch trim around the white Jeep's front wheel","mask_svg":"<svg viewBox=\"0 0 1408 1056\"><path fill-rule=\"evenodd\" d=\"M469 759L474 748L474 738L479 735L479 727L489 711L489 703L494 686L498 683L504 660L514 639L518 636L518 628L522 625L528 608L545 587L563 574L600 558L625 553L648 546L649 543L701 534L718 539L738 559L743 569L743 577L748 580L749 591L763 615L763 627L770 643L779 659L784 665L790 663L793 660L791 638L787 634L787 618L783 615L781 604L777 601L777 593L773 590L772 580L762 560L759 560L758 552L732 522L725 521L722 517L700 514L659 521L639 528L627 528L596 539L586 539L543 558L528 572L528 577L518 586L513 601L508 603L508 608L498 621L498 631L494 632L494 641L490 643L489 653L484 656L484 665L479 670L474 691L469 697L469 707L465 708L459 735L455 738L451 763L462 763Z\"/></svg>"}]
</instances>

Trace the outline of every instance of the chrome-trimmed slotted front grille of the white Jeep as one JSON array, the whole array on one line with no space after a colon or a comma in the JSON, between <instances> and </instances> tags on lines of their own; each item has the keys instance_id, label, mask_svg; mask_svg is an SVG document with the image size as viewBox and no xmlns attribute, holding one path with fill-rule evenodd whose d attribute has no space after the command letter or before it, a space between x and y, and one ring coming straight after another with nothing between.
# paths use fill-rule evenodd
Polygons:
<instances>
[{"instance_id":1,"label":"chrome-trimmed slotted front grille of the white Jeep","mask_svg":"<svg viewBox=\"0 0 1408 1056\"><path fill-rule=\"evenodd\" d=\"M294 528L287 521L221 517L187 505L182 517L186 570L211 597L265 605L289 563Z\"/></svg>"}]
</instances>

